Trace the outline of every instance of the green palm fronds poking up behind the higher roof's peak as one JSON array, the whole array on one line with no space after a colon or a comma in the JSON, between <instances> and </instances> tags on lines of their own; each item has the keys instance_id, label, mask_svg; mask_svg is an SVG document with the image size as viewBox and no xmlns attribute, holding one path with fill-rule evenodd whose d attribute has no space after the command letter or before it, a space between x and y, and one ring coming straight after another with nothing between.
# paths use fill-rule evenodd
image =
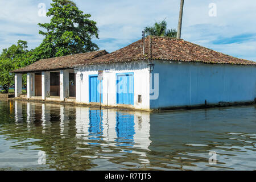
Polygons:
<instances>
[{"instance_id":1,"label":"green palm fronds poking up behind the higher roof's peak","mask_svg":"<svg viewBox=\"0 0 256 182\"><path fill-rule=\"evenodd\" d=\"M176 38L177 31L175 29L167 30L167 23L165 20L162 22L155 22L154 26L147 26L145 28L146 35L154 35L154 36L168 36L171 38Z\"/></svg>"}]
</instances>

